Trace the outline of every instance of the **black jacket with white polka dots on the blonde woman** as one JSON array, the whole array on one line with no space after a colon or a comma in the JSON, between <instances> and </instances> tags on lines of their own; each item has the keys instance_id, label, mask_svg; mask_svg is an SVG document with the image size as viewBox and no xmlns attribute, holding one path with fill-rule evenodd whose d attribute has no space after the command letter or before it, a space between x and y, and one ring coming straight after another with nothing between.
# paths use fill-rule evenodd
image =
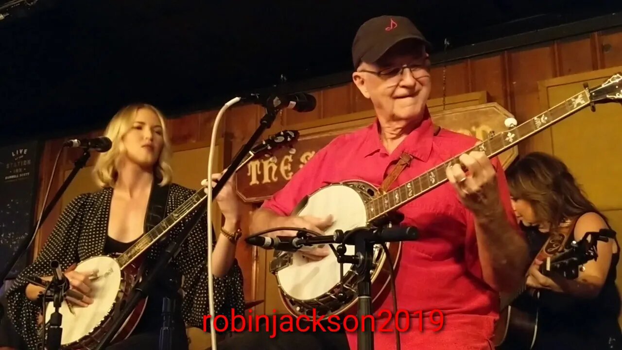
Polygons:
<instances>
[{"instance_id":1,"label":"black jacket with white polka dots on the blonde woman","mask_svg":"<svg viewBox=\"0 0 622 350\"><path fill-rule=\"evenodd\" d=\"M172 184L165 215L169 215L185 202L195 191ZM8 315L17 332L29 349L36 349L40 342L37 334L37 317L40 303L26 298L24 276L50 276L50 260L58 260L63 270L87 258L103 255L108 230L108 216L113 189L105 188L90 194L81 194L71 201L60 215L52 234L35 262L17 277L7 291ZM175 239L190 220L188 215L167 232ZM161 241L161 240L160 240ZM148 261L154 262L165 243L157 242L147 252ZM213 243L216 240L213 239ZM172 267L183 275L182 316L188 326L203 328L203 315L209 315L207 273L207 215L203 215L185 240L182 250L172 261ZM227 316L231 324L231 310L236 315L244 313L243 277L237 261L228 275L214 278L214 301L216 315ZM218 318L222 319L222 318ZM209 323L208 323L209 324Z\"/></svg>"}]
</instances>

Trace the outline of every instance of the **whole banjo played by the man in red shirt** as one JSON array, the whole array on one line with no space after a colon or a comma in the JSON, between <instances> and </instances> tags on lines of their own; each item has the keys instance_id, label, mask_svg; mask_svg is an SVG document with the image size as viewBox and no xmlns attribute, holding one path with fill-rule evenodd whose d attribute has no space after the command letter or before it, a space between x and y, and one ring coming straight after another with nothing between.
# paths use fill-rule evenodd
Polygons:
<instances>
[{"instance_id":1,"label":"whole banjo played by the man in red shirt","mask_svg":"<svg viewBox=\"0 0 622 350\"><path fill-rule=\"evenodd\" d=\"M481 151L488 158L492 158L588 105L594 111L595 103L622 101L622 73L613 75L593 89L590 89L587 83L583 87L582 92L519 126L516 126L515 120L506 120L508 130L491 135L465 153ZM461 164L458 156L386 193L379 192L368 182L358 180L329 184L304 197L291 215L315 217L333 215L335 223L325 231L325 235L333 235L335 230L346 232L356 227L377 227L390 221L388 215L394 210L446 182L445 169L453 164ZM373 268L369 273L372 280L373 308L378 307L377 303L380 302L378 296L386 293L390 272L392 268L397 267L401 254L401 242L387 246L390 259L381 245L374 246ZM346 245L346 254L354 253L355 248ZM330 254L319 261L307 261L301 254L301 252L278 251L271 261L271 273L276 275L279 296L285 308L297 316L355 313L356 308L353 306L358 298L355 267L344 263L342 276L341 266L335 254ZM389 262L392 262L393 266L389 266Z\"/></svg>"}]
</instances>

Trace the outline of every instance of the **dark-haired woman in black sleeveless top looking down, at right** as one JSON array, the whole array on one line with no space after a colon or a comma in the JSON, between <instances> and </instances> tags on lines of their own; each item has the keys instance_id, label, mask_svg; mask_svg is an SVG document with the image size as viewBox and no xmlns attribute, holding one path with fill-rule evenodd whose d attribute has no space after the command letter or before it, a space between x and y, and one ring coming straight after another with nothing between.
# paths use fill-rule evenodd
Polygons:
<instances>
[{"instance_id":1,"label":"dark-haired woman in black sleeveless top looking down, at right","mask_svg":"<svg viewBox=\"0 0 622 350\"><path fill-rule=\"evenodd\" d=\"M581 191L567 166L545 153L531 153L508 169L514 212L527 232L532 258L550 234L567 232L572 240L610 229L606 217ZM575 280L529 268L527 286L539 291L540 311L533 349L621 349L616 288L618 241L598 242L598 260L583 265Z\"/></svg>"}]
</instances>

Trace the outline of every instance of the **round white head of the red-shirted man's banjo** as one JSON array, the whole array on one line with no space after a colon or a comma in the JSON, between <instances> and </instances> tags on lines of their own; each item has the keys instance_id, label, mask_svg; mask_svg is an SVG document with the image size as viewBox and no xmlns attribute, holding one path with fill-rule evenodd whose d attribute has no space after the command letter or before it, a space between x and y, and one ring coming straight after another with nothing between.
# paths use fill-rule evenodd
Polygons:
<instances>
[{"instance_id":1,"label":"round white head of the red-shirted man's banjo","mask_svg":"<svg viewBox=\"0 0 622 350\"><path fill-rule=\"evenodd\" d=\"M309 196L304 207L292 215L315 217L333 215L334 223L326 230L325 235L333 235L335 230L346 232L356 227L363 227L367 225L368 220L364 203L371 197L370 190L376 191L373 186L364 182L329 185ZM346 254L355 253L353 245L345 247ZM340 286L340 263L332 251L319 261L302 257L300 251L284 254L288 255L289 263L275 275L285 298L299 301L317 300ZM344 281L348 278L351 268L350 263L343 264Z\"/></svg>"}]
</instances>

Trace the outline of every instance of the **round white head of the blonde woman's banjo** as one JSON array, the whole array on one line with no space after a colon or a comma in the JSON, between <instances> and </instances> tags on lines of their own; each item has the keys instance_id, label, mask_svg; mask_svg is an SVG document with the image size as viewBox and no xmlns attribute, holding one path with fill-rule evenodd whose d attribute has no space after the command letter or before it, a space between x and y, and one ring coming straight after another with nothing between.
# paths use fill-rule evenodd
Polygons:
<instances>
[{"instance_id":1,"label":"round white head of the blonde woman's banjo","mask_svg":"<svg viewBox=\"0 0 622 350\"><path fill-rule=\"evenodd\" d=\"M90 273L98 271L98 278L91 281L91 298L93 304L87 307L73 305L73 313L63 301L58 309L63 316L63 334L60 344L68 346L80 341L87 334L91 334L101 326L107 316L113 311L114 303L118 298L119 288L123 283L121 267L112 257L98 256L89 258L78 264L75 271ZM54 312L52 302L47 303L45 308L45 323L48 323ZM74 315L75 313L75 315Z\"/></svg>"}]
</instances>

